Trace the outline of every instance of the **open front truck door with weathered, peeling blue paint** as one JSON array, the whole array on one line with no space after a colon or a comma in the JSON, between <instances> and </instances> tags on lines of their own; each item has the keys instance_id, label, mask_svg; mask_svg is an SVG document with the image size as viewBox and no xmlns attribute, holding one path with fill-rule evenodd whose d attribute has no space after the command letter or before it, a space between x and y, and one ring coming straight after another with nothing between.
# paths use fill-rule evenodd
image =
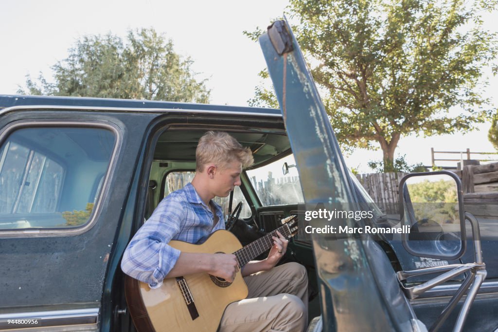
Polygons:
<instances>
[{"instance_id":1,"label":"open front truck door with weathered, peeling blue paint","mask_svg":"<svg viewBox=\"0 0 498 332\"><path fill-rule=\"evenodd\" d=\"M288 23L284 20L275 21L259 37L259 42L295 156L306 213L310 206L360 211L359 200L330 119ZM327 224L324 223L325 218L315 222L325 228L365 227L364 220L355 219L335 219ZM467 220L472 222L471 218ZM464 225L465 232L465 219L460 224ZM472 223L473 230L475 226L476 240L479 228ZM468 290L469 295L454 326L454 331L461 331L470 305L486 276L478 247L480 244L476 244L474 248L476 262L470 265L455 264L447 268L433 268L431 271L398 271L396 275L385 251L365 233L361 236L335 238L317 234L312 236L321 297L321 331L427 331L428 327L417 319L408 300L414 298L413 292L423 293L457 275L470 272L467 275L471 277L466 277L443 313L435 322L431 322L430 328L430 331L438 330ZM465 238L460 239L459 243L464 240ZM480 242L477 240L474 242ZM459 247L458 253L452 258L458 256L458 259L463 251L465 247ZM417 286L423 289L404 287L403 282L409 276L429 272L440 275Z\"/></svg>"}]
</instances>

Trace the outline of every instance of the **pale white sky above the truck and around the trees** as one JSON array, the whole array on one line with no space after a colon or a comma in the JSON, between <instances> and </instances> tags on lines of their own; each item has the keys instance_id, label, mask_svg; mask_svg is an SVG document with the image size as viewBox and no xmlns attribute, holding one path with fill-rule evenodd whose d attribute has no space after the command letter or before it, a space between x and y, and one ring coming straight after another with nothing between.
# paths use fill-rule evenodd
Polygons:
<instances>
[{"instance_id":1,"label":"pale white sky above the truck and around the trees","mask_svg":"<svg viewBox=\"0 0 498 332\"><path fill-rule=\"evenodd\" d=\"M42 72L49 78L50 67L65 59L68 49L84 35L112 32L124 37L129 29L153 27L173 40L177 53L194 60L197 77L208 79L211 104L247 106L265 62L259 45L243 31L266 27L273 18L281 17L287 4L287 0L2 0L0 94L15 94L26 74L36 78ZM498 22L491 15L485 17L485 23L487 29L498 31ZM493 98L498 78L486 72L490 77L485 95ZM497 98L492 105L497 107ZM431 148L496 152L487 138L490 127L490 123L482 124L468 134L403 137L396 154L406 155L409 164L430 165ZM357 149L345 155L346 164L360 172L371 172L367 163L381 158L381 150ZM443 163L440 166L454 165Z\"/></svg>"}]
</instances>

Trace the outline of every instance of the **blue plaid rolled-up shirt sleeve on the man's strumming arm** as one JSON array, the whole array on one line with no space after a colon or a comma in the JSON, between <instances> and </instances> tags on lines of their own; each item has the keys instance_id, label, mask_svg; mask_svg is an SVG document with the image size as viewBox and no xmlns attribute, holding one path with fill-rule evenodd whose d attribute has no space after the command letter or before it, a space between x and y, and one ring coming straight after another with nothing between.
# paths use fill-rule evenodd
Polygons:
<instances>
[{"instance_id":1,"label":"blue plaid rolled-up shirt sleeve on the man's strumming arm","mask_svg":"<svg viewBox=\"0 0 498 332\"><path fill-rule=\"evenodd\" d=\"M188 209L185 203L163 199L140 227L124 251L121 269L132 278L159 287L180 257L180 250L168 245L182 227Z\"/></svg>"}]
</instances>

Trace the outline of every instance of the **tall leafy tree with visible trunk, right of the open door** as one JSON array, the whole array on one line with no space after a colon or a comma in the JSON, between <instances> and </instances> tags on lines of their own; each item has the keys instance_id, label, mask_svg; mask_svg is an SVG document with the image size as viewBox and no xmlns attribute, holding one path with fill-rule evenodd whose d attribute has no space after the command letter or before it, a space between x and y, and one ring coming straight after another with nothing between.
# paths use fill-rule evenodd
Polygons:
<instances>
[{"instance_id":1,"label":"tall leafy tree with visible trunk, right of the open door","mask_svg":"<svg viewBox=\"0 0 498 332\"><path fill-rule=\"evenodd\" d=\"M496 0L290 0L288 14L299 21L293 30L325 92L341 145L373 149L378 143L384 171L390 171L403 135L467 132L486 121L489 101L480 78L497 54L497 33L482 29L480 13L496 5ZM267 100L275 100L272 92L258 87L249 103L268 105ZM461 114L454 115L456 106Z\"/></svg>"}]
</instances>

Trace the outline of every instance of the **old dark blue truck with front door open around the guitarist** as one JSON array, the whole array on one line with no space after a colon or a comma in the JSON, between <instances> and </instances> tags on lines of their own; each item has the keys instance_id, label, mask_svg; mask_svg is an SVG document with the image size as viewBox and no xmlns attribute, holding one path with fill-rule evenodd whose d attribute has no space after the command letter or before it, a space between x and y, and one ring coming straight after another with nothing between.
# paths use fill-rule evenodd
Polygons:
<instances>
[{"instance_id":1,"label":"old dark blue truck with front door open around the guitarist","mask_svg":"<svg viewBox=\"0 0 498 332\"><path fill-rule=\"evenodd\" d=\"M411 174L400 183L399 215L386 216L349 173L287 23L270 25L260 44L280 110L0 96L0 330L136 331L124 249L159 201L190 180L208 130L253 152L240 188L219 200L242 244L297 215L283 260L307 269L308 331L498 329L496 224L481 237L458 178ZM417 176L453 181L451 231L420 231L432 217L418 218L410 198ZM332 206L372 213L331 227L410 226L422 235L307 234L306 226L327 225L307 223L303 209Z\"/></svg>"}]
</instances>

